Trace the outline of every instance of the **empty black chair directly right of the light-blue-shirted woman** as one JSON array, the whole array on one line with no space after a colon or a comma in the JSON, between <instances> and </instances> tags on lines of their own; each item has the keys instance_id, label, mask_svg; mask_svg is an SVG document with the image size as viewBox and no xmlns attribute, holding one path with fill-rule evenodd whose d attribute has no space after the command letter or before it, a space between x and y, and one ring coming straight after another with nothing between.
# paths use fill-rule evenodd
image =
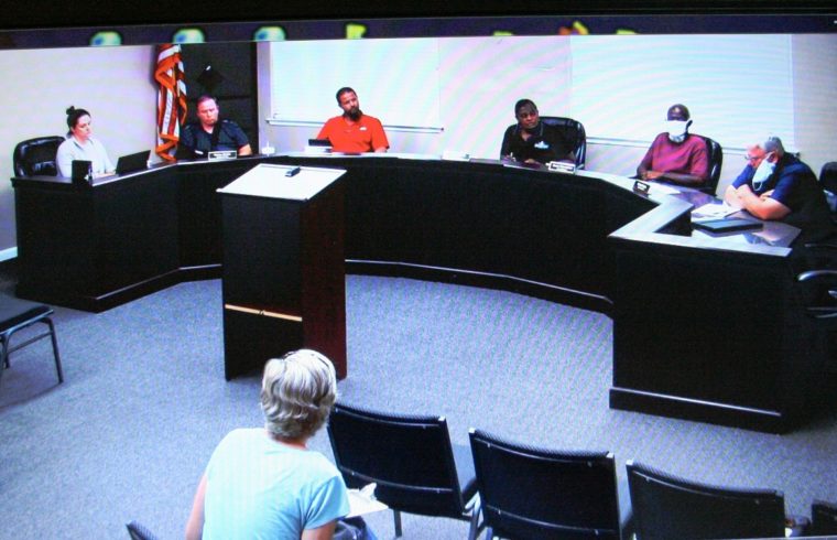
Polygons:
<instances>
[{"instance_id":1,"label":"empty black chair directly right of the light-blue-shirted woman","mask_svg":"<svg viewBox=\"0 0 837 540\"><path fill-rule=\"evenodd\" d=\"M445 418L372 412L337 403L328 421L337 468L346 485L378 484L378 500L393 510L395 536L401 512L470 521L479 527L479 497L467 446L450 444Z\"/></svg>"}]
</instances>

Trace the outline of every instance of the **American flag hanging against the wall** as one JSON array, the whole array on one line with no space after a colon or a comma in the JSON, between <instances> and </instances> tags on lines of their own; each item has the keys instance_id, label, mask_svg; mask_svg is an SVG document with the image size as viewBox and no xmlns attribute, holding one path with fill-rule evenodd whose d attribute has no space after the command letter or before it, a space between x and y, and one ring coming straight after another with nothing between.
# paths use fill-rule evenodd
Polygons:
<instances>
[{"instance_id":1,"label":"American flag hanging against the wall","mask_svg":"<svg viewBox=\"0 0 837 540\"><path fill-rule=\"evenodd\" d=\"M181 123L186 121L186 83L183 80L181 46L160 45L154 79L157 91L157 145L154 152L165 161L174 161Z\"/></svg>"}]
</instances>

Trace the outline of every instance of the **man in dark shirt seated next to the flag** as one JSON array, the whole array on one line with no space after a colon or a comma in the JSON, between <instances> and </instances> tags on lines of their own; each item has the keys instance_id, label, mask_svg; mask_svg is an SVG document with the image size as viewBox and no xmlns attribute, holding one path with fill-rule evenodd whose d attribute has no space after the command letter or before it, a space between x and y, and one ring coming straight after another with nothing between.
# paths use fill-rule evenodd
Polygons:
<instances>
[{"instance_id":1,"label":"man in dark shirt seated next to the flag","mask_svg":"<svg viewBox=\"0 0 837 540\"><path fill-rule=\"evenodd\" d=\"M181 132L177 156L206 158L216 150L236 150L238 155L253 153L247 134L232 120L219 119L220 109L211 96L197 99L198 122L188 123Z\"/></svg>"}]
</instances>

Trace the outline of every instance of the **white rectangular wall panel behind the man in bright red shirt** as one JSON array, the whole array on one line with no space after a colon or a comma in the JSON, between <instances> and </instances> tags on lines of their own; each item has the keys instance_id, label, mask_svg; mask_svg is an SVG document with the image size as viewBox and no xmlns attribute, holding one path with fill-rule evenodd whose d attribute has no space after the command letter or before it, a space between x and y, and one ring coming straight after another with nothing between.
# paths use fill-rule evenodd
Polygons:
<instances>
[{"instance_id":1,"label":"white rectangular wall panel behind the man in bright red shirt","mask_svg":"<svg viewBox=\"0 0 837 540\"><path fill-rule=\"evenodd\" d=\"M389 129L442 130L436 39L271 43L271 120L323 125L343 111L348 86L361 110Z\"/></svg>"}]
</instances>

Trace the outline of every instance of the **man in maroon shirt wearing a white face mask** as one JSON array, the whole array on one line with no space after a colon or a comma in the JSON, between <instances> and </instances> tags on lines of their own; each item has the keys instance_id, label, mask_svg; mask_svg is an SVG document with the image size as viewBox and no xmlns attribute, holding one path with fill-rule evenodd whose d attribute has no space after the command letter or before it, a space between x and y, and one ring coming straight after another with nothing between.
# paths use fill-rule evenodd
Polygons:
<instances>
[{"instance_id":1,"label":"man in maroon shirt wearing a white face mask","mask_svg":"<svg viewBox=\"0 0 837 540\"><path fill-rule=\"evenodd\" d=\"M706 140L688 132L692 119L685 105L668 108L665 131L656 136L637 168L642 180L700 187L709 177Z\"/></svg>"}]
</instances>

